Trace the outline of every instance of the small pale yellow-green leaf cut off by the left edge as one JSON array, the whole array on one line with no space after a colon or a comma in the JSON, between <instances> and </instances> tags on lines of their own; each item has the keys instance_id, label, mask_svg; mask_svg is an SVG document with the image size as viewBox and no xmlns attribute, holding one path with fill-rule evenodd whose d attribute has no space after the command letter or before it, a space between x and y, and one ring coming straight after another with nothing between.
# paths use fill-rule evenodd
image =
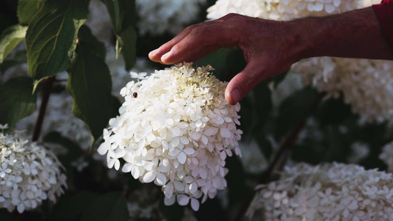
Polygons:
<instances>
[{"instance_id":1,"label":"small pale yellow-green leaf cut off by the left edge","mask_svg":"<svg viewBox=\"0 0 393 221\"><path fill-rule=\"evenodd\" d=\"M0 63L14 49L26 35L27 26L14 25L5 29L0 37Z\"/></svg>"}]
</instances>

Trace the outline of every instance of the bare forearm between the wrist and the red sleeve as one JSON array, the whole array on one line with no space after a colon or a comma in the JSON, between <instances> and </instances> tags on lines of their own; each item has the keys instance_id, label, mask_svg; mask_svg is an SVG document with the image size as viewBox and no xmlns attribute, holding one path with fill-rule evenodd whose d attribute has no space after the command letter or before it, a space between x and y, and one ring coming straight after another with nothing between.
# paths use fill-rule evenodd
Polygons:
<instances>
[{"instance_id":1,"label":"bare forearm between the wrist and the red sleeve","mask_svg":"<svg viewBox=\"0 0 393 221\"><path fill-rule=\"evenodd\" d=\"M392 48L371 7L292 23L303 46L300 59L338 56L393 60Z\"/></svg>"}]
</instances>

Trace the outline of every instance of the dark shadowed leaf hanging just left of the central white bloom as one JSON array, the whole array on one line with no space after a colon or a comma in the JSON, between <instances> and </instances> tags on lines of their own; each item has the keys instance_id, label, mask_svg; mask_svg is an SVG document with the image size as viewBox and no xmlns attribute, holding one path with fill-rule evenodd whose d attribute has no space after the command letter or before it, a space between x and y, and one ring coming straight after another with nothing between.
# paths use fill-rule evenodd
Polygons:
<instances>
[{"instance_id":1,"label":"dark shadowed leaf hanging just left of the central white bloom","mask_svg":"<svg viewBox=\"0 0 393 221\"><path fill-rule=\"evenodd\" d=\"M112 80L105 63L105 46L87 26L78 35L76 59L68 70L66 89L73 97L72 112L82 119L95 139L112 117Z\"/></svg>"}]
</instances>

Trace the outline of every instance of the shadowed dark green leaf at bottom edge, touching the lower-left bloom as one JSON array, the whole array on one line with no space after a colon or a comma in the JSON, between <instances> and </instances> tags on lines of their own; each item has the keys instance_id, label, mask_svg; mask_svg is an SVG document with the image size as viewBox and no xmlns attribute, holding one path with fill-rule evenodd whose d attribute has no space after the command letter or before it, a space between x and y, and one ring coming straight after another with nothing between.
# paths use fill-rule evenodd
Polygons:
<instances>
[{"instance_id":1,"label":"shadowed dark green leaf at bottom edge, touching the lower-left bloom","mask_svg":"<svg viewBox=\"0 0 393 221\"><path fill-rule=\"evenodd\" d=\"M97 193L82 191L74 195L65 195L59 199L49 214L51 220L71 221L77 220L84 211L91 209L89 205L99 195ZM90 211L95 213L94 211Z\"/></svg>"}]
</instances>

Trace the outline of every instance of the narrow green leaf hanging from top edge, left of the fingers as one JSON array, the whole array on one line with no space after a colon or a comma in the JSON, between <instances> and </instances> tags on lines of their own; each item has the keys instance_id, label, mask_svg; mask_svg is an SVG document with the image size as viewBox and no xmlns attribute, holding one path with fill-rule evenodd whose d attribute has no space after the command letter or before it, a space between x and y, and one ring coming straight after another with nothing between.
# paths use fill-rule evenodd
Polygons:
<instances>
[{"instance_id":1,"label":"narrow green leaf hanging from top edge, left of the fingers","mask_svg":"<svg viewBox=\"0 0 393 221\"><path fill-rule=\"evenodd\" d=\"M103 0L111 17L116 35L116 58L123 52L127 70L130 70L136 60L137 34L132 26L135 11L135 0Z\"/></svg>"}]
</instances>

